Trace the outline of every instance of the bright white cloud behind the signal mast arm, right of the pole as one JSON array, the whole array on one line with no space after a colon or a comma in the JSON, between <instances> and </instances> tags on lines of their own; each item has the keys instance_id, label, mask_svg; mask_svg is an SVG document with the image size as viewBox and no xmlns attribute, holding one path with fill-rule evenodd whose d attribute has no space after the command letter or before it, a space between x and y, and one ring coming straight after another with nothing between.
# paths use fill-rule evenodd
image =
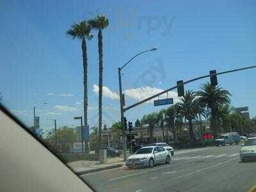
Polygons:
<instances>
[{"instance_id":1,"label":"bright white cloud behind the signal mast arm, right of the pole","mask_svg":"<svg viewBox=\"0 0 256 192\"><path fill-rule=\"evenodd\" d=\"M147 99L148 97L151 97L152 95L156 95L157 93L163 92L164 90L155 88L155 87L150 87L150 86L145 86L141 88L135 88L135 89L129 89L125 90L125 95L128 97L131 97L134 100L143 100ZM178 94L176 92L168 92L168 98L173 98L173 102L178 102ZM159 96L159 99L165 99L167 98L167 94L164 93L163 95ZM153 100L158 99L157 97ZM153 102L153 100L150 100L148 102Z\"/></svg>"}]
</instances>

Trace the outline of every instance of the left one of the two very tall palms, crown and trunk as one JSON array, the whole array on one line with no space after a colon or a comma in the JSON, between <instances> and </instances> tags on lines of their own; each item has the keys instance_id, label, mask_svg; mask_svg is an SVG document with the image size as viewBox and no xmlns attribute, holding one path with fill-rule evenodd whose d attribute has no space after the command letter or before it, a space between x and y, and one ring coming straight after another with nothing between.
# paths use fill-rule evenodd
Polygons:
<instances>
[{"instance_id":1,"label":"left one of the two very tall palms, crown and trunk","mask_svg":"<svg viewBox=\"0 0 256 192\"><path fill-rule=\"evenodd\" d=\"M87 127L87 109L88 109L88 91L87 91L87 47L86 40L91 40L93 35L91 32L91 26L85 21L81 21L78 24L73 24L70 29L66 32L68 36L82 40L82 52L83 52L83 72L84 72L84 125ZM89 152L88 143L86 143L85 151Z\"/></svg>"}]
</instances>

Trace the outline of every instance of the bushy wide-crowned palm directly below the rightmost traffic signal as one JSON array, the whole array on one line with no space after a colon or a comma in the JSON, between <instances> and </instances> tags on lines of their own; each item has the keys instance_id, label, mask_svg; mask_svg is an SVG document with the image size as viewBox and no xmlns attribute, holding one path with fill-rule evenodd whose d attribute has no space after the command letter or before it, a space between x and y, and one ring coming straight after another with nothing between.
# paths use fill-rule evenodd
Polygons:
<instances>
[{"instance_id":1,"label":"bushy wide-crowned palm directly below the rightmost traffic signal","mask_svg":"<svg viewBox=\"0 0 256 192\"><path fill-rule=\"evenodd\" d=\"M231 95L227 90L223 90L219 86L213 86L211 83L205 83L201 86L201 91L198 91L196 95L202 104L204 104L211 113L210 127L214 133L214 137L217 136L216 128L216 115L218 114L219 106L223 104L229 104Z\"/></svg>"}]
</instances>

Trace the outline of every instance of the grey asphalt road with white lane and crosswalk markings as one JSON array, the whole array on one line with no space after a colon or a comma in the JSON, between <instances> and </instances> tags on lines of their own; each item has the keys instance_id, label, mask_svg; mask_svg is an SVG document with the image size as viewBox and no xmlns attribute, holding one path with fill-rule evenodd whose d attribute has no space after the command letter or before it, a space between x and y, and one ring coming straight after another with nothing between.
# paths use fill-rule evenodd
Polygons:
<instances>
[{"instance_id":1,"label":"grey asphalt road with white lane and crosswalk markings","mask_svg":"<svg viewBox=\"0 0 256 192\"><path fill-rule=\"evenodd\" d=\"M175 154L170 164L81 175L96 191L248 191L256 161L241 163L240 145Z\"/></svg>"}]
</instances>

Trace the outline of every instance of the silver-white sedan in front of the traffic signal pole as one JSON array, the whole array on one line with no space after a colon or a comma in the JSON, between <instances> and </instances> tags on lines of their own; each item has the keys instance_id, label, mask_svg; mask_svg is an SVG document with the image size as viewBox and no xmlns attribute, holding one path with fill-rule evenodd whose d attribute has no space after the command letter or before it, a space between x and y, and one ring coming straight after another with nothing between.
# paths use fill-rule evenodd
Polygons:
<instances>
[{"instance_id":1,"label":"silver-white sedan in front of the traffic signal pole","mask_svg":"<svg viewBox=\"0 0 256 192\"><path fill-rule=\"evenodd\" d=\"M136 166L153 167L154 164L170 163L172 155L163 147L150 146L141 147L125 161L128 168Z\"/></svg>"}]
</instances>

